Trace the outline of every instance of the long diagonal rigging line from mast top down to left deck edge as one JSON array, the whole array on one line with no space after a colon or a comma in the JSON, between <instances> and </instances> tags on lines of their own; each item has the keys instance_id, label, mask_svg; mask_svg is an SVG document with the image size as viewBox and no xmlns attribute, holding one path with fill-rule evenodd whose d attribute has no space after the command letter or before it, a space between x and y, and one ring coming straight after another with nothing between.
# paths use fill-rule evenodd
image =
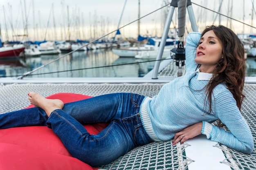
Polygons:
<instances>
[{"instance_id":1,"label":"long diagonal rigging line from mast top down to left deck edge","mask_svg":"<svg viewBox=\"0 0 256 170\"><path fill-rule=\"evenodd\" d=\"M166 6L168 6L168 5L169 5L169 4L166 4L166 5L164 5L163 7L160 7L160 8L158 8L158 9L156 9L155 11L152 11L152 12L150 12L150 13L148 13L148 14L142 16L141 18L144 18L144 17L146 17L146 16L148 16L148 15L150 15L150 14L152 14L152 13L155 13L156 11L158 11L158 10L160 10L160 9L162 9L162 8L164 8L164 7L166 7ZM130 24L132 24L132 23L134 23L134 22L137 22L137 21L140 20L141 18L138 18L138 19L136 19L136 20L134 20L134 21L132 21L132 22L130 22L130 23L124 25L124 26L121 26L119 29L122 29L122 28L124 28L125 26L128 26L128 25L130 25ZM110 33L107 33L106 35L103 35L103 36L101 36L100 38L97 38L97 39L95 39L95 40L93 40L93 41L91 41L91 42L89 42L89 43L87 43L87 44L84 44L83 46L79 47L78 49L75 49L75 50L73 50L73 51L70 51L69 53L67 53L67 54L65 54L65 55L62 55L62 56L56 58L55 60L52 60L51 62L49 62L49 63L47 63L47 64L44 64L44 65L42 65L42 66L40 66L40 67L38 67L38 68L35 68L35 69L32 70L32 71L29 71L29 72L27 72L27 73L23 73L21 76L17 77L16 79L22 79L23 77L26 77L27 75L29 75L29 74L31 74L31 73L34 73L35 71L39 70L40 68L43 68L43 67L45 67L45 66L47 66L47 65L49 65L49 64L51 64L51 63L53 63L53 62L55 62L55 61L57 61L57 60L59 60L59 59L61 59L61 58L63 58L63 57L65 57L65 56L67 56L67 55L69 55L69 54L75 52L75 51L78 51L79 49L81 49L81 48L83 48L83 47L85 47L85 46L88 46L89 44L92 44L93 42L96 42L96 41L100 40L101 38L104 38L104 37L106 37L106 36L108 36L108 35L110 35L110 34L116 32L117 30L118 30L118 29L116 29L116 30L114 30L114 31L112 31L112 32L110 32Z\"/></svg>"}]
</instances>

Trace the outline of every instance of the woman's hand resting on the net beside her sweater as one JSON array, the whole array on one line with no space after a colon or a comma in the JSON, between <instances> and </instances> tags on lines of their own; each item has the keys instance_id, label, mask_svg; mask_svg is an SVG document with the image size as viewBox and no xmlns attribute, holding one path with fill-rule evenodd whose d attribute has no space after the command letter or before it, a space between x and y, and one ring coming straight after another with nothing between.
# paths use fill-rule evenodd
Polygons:
<instances>
[{"instance_id":1,"label":"woman's hand resting on the net beside her sweater","mask_svg":"<svg viewBox=\"0 0 256 170\"><path fill-rule=\"evenodd\" d=\"M175 137L173 138L173 145L177 144L179 141L181 144L184 141L196 137L201 134L203 123L199 122L197 124L193 124L189 127L184 128L182 131L177 132Z\"/></svg>"}]
</instances>

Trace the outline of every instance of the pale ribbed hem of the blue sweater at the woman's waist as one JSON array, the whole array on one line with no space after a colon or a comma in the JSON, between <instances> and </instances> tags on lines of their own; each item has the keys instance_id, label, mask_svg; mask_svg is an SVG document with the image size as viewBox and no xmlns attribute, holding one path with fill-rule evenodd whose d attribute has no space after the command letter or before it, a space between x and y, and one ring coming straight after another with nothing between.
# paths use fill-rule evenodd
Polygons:
<instances>
[{"instance_id":1,"label":"pale ribbed hem of the blue sweater at the woman's waist","mask_svg":"<svg viewBox=\"0 0 256 170\"><path fill-rule=\"evenodd\" d=\"M143 102L141 103L141 107L139 110L139 114L141 115L141 122L142 122L147 134L149 135L149 137L151 139L153 139L154 141L161 141L155 135L155 132L154 132L153 126L152 126L152 122L150 120L150 117L148 116L147 104L148 104L149 100L151 100L150 97L145 97Z\"/></svg>"}]
</instances>

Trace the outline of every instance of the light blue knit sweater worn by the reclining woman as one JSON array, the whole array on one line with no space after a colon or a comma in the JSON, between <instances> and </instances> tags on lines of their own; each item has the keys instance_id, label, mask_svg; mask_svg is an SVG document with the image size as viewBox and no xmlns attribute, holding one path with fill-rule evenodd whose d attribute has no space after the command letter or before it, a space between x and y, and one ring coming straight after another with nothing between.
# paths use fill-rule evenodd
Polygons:
<instances>
[{"instance_id":1,"label":"light blue knit sweater worn by the reclining woman","mask_svg":"<svg viewBox=\"0 0 256 170\"><path fill-rule=\"evenodd\" d=\"M207 73L196 72L194 60L200 37L200 33L193 32L186 38L186 74L165 84L153 98L144 98L140 108L144 128L154 141L167 141L180 130L203 122L201 132L208 139L250 154L254 150L252 132L225 84L213 89L213 113L206 113L209 105L205 106L204 87L209 80L198 79L198 75ZM211 123L217 119L231 132L213 126Z\"/></svg>"}]
</instances>

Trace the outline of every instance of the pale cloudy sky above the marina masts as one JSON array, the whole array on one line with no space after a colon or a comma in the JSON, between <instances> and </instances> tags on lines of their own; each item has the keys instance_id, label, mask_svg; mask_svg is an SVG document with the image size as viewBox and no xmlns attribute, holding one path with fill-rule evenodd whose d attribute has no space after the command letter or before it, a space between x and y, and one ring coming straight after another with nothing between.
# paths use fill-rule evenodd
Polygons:
<instances>
[{"instance_id":1,"label":"pale cloudy sky above the marina masts","mask_svg":"<svg viewBox=\"0 0 256 170\"><path fill-rule=\"evenodd\" d=\"M232 15L232 18L243 21L243 1L245 1L246 8L245 22L251 25L254 0L224 0L221 13ZM95 39L114 31L109 35L113 37L118 27L137 20L138 2L139 0L0 0L1 38L11 40L13 37L17 38L15 35L28 34L31 40ZM170 0L140 0L140 17L163 7L166 2ZM192 0L192 2L218 11L219 3L216 2L220 0ZM228 3L232 2L233 10L228 7ZM125 8L124 4L126 4ZM192 8L199 31L206 25L213 24L213 20L215 20L214 24L219 24L219 18L215 18L213 12L207 11L206 14L204 9L195 4L192 4ZM164 13L167 9L168 7L164 7L142 18L140 34L161 36L165 21ZM174 16L171 27L177 27L177 17ZM254 18L256 18L256 13L254 13ZM234 29L236 28L237 33L256 32L256 29L248 28L248 26L244 31L242 24L234 21L228 22L225 17L221 20L221 24L225 26L229 24ZM256 25L256 20L254 21ZM138 22L120 29L120 32L124 37L136 38Z\"/></svg>"}]
</instances>

